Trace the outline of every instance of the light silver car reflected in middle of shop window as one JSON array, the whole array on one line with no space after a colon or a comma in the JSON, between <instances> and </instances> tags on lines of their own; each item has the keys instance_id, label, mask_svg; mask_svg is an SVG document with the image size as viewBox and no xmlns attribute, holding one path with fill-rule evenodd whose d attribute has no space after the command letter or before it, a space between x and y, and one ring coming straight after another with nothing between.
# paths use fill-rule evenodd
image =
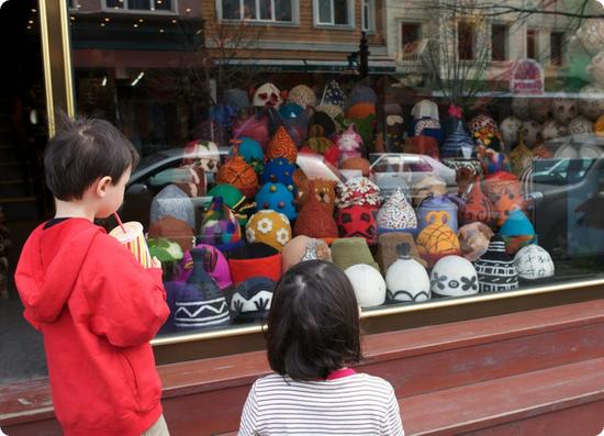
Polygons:
<instances>
[{"instance_id":1,"label":"light silver car reflected in middle of shop window","mask_svg":"<svg viewBox=\"0 0 604 436\"><path fill-rule=\"evenodd\" d=\"M438 160L410 153L387 153L370 156L371 180L383 197L396 188L409 189L426 176L437 176L447 183L451 193L457 192L456 171Z\"/></svg>"}]
</instances>

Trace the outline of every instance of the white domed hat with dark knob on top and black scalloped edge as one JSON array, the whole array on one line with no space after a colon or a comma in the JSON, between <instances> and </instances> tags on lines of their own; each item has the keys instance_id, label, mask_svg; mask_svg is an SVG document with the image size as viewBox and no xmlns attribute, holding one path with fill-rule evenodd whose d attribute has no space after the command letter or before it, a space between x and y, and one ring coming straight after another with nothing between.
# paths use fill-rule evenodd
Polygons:
<instances>
[{"instance_id":1,"label":"white domed hat with dark knob on top and black scalloped edge","mask_svg":"<svg viewBox=\"0 0 604 436\"><path fill-rule=\"evenodd\" d=\"M395 302L421 302L430 298L428 272L422 264L411 257L409 244L398 247L399 259L385 273L388 299Z\"/></svg>"}]
</instances>

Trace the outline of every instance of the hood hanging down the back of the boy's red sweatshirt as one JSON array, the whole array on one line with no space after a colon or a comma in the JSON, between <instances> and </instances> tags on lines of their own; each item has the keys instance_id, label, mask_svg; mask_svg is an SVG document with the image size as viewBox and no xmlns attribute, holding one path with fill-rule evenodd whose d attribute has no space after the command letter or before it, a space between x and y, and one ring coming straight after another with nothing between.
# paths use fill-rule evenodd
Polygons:
<instances>
[{"instance_id":1,"label":"hood hanging down the back of the boy's red sweatshirt","mask_svg":"<svg viewBox=\"0 0 604 436\"><path fill-rule=\"evenodd\" d=\"M30 236L14 275L25 315L52 323L65 308L88 250L102 227L86 219L68 219Z\"/></svg>"}]
</instances>

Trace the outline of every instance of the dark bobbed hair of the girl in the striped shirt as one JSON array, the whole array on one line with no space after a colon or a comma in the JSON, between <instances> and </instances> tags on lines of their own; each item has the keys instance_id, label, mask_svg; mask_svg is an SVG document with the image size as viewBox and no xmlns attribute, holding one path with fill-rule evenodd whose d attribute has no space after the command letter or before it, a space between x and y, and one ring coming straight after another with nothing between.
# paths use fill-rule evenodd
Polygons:
<instances>
[{"instance_id":1,"label":"dark bobbed hair of the girl in the striped shirt","mask_svg":"<svg viewBox=\"0 0 604 436\"><path fill-rule=\"evenodd\" d=\"M266 335L275 372L294 380L325 379L361 359L359 334L355 291L335 265L300 262L277 284Z\"/></svg>"}]
</instances>

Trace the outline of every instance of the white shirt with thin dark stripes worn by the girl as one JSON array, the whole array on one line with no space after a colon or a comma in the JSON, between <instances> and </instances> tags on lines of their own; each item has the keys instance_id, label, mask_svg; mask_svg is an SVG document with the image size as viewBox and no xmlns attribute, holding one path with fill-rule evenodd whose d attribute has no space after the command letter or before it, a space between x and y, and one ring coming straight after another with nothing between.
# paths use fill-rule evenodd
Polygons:
<instances>
[{"instance_id":1,"label":"white shirt with thin dark stripes worn by the girl","mask_svg":"<svg viewBox=\"0 0 604 436\"><path fill-rule=\"evenodd\" d=\"M244 406L238 436L404 436L392 385L355 373L325 381L270 374L257 380Z\"/></svg>"}]
</instances>

